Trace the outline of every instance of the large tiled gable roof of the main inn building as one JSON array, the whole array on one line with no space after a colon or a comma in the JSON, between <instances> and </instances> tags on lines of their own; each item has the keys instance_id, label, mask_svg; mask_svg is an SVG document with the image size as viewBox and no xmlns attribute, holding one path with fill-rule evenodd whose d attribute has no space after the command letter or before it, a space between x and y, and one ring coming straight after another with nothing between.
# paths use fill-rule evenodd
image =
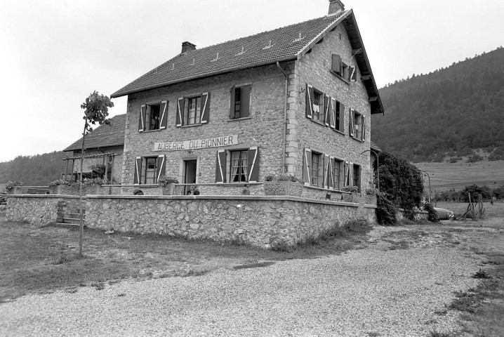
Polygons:
<instances>
[{"instance_id":1,"label":"large tiled gable roof of the main inn building","mask_svg":"<svg viewBox=\"0 0 504 337\"><path fill-rule=\"evenodd\" d=\"M111 97L118 98L234 70L299 60L342 21L345 22L352 48L362 48L362 53L356 55L356 60L361 73L371 77L371 81L364 81L369 96L375 97L373 99L378 97L378 105L371 101L371 113L381 113L383 105L352 10L181 53L119 89Z\"/></svg>"}]
</instances>

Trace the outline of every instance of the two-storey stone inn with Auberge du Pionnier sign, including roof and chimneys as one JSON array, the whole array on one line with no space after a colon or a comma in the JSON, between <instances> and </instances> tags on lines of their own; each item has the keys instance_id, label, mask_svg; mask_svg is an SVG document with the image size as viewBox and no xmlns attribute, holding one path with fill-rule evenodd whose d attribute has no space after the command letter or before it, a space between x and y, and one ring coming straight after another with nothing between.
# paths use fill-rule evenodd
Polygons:
<instances>
[{"instance_id":1,"label":"two-storey stone inn with Auberge du Pionnier sign, including roof and chimneys","mask_svg":"<svg viewBox=\"0 0 504 337\"><path fill-rule=\"evenodd\" d=\"M371 114L383 105L341 1L321 18L250 37L199 49L183 42L112 98L124 95L125 185L171 176L230 194L291 175L319 192L371 186Z\"/></svg>"}]
</instances>

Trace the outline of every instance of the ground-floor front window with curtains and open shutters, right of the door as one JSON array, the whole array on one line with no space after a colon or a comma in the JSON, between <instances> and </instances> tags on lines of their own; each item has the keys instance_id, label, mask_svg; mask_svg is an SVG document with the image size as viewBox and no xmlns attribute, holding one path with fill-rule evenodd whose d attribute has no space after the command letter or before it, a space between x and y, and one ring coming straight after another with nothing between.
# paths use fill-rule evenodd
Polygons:
<instances>
[{"instance_id":1,"label":"ground-floor front window with curtains and open shutters, right of the door","mask_svg":"<svg viewBox=\"0 0 504 337\"><path fill-rule=\"evenodd\" d=\"M215 183L253 183L258 180L258 147L241 150L218 150Z\"/></svg>"}]
</instances>

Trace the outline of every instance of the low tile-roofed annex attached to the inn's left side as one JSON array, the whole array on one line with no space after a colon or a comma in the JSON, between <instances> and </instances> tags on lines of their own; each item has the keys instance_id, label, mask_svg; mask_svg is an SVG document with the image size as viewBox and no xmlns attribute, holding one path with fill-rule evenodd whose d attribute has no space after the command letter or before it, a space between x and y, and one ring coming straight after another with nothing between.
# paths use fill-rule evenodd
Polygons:
<instances>
[{"instance_id":1,"label":"low tile-roofed annex attached to the inn's left side","mask_svg":"<svg viewBox=\"0 0 504 337\"><path fill-rule=\"evenodd\" d=\"M86 151L84 152L86 160L84 160L83 172L91 172L91 166L107 163L112 169L112 179L117 183L121 181L125 124L126 114L119 114L110 119L110 125L103 124L88 133L86 136ZM71 154L67 156L65 169L67 180L76 179L77 173L81 171L81 148L82 138L79 138L79 140L63 150Z\"/></svg>"}]
</instances>

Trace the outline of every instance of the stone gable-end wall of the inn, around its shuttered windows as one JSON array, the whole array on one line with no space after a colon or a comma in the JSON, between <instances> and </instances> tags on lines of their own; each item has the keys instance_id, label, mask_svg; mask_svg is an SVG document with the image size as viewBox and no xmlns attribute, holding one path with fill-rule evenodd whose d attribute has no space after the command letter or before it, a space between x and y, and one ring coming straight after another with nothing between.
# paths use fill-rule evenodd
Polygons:
<instances>
[{"instance_id":1,"label":"stone gable-end wall of the inn, around its shuttered windows","mask_svg":"<svg viewBox=\"0 0 504 337\"><path fill-rule=\"evenodd\" d=\"M340 38L341 37L341 38ZM357 82L343 81L331 73L331 55L341 55L343 62L356 67ZM352 59L352 60L350 60ZM305 117L306 85L335 98L345 105L344 131L334 131L329 126ZM369 150L371 145L371 105L355 58L352 46L342 24L313 46L312 51L296 62L295 73L289 79L289 112L287 135L287 164L289 173L303 176L303 150L309 148L321 154L329 154L343 161L361 166L361 189L371 185ZM350 108L366 116L365 141L350 136ZM364 152L363 154L361 154Z\"/></svg>"}]
</instances>

